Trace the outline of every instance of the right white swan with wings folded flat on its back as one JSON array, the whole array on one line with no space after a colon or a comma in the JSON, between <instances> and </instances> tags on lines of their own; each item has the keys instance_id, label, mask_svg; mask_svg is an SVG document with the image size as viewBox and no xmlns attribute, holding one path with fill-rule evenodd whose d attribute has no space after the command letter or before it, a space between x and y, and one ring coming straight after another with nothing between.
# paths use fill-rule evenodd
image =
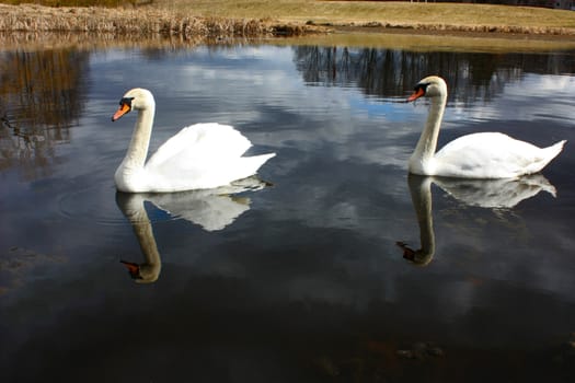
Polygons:
<instances>
[{"instance_id":1,"label":"right white swan with wings folded flat on its back","mask_svg":"<svg viewBox=\"0 0 575 383\"><path fill-rule=\"evenodd\" d=\"M419 141L410 158L409 170L421 175L461 178L514 178L538 173L563 149L565 140L538 148L501 132L460 137L437 153L437 137L447 103L444 79L430 76L415 85L407 102L427 96L432 106Z\"/></svg>"}]
</instances>

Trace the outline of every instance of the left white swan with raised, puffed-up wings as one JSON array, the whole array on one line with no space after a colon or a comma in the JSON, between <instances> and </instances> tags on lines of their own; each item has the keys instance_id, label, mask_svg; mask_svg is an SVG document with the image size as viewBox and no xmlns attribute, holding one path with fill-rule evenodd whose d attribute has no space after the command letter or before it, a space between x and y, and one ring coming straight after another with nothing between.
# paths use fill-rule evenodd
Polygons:
<instances>
[{"instance_id":1,"label":"left white swan with raised, puffed-up wings","mask_svg":"<svg viewBox=\"0 0 575 383\"><path fill-rule=\"evenodd\" d=\"M138 111L131 141L114 176L116 187L128 193L168 193L229 185L254 175L275 153L242 156L250 140L227 125L196 124L165 141L146 162L156 102L150 91L133 89L119 102L115 121Z\"/></svg>"}]
</instances>

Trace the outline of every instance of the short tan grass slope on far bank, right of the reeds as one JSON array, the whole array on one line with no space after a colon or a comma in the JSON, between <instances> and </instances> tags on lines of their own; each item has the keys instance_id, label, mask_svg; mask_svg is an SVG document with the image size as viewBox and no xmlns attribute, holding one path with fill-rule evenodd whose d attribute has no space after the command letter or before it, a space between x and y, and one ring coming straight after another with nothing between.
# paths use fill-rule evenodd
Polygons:
<instances>
[{"instance_id":1,"label":"short tan grass slope on far bank, right of the reeds","mask_svg":"<svg viewBox=\"0 0 575 383\"><path fill-rule=\"evenodd\" d=\"M575 13L543 8L409 1L156 0L202 16L271 19L331 26L575 34Z\"/></svg>"}]
</instances>

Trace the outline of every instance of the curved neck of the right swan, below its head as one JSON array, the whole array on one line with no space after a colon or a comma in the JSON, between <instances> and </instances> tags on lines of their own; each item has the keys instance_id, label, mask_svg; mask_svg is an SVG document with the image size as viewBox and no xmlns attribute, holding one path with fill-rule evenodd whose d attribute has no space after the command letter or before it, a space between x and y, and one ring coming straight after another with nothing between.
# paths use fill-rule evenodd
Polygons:
<instances>
[{"instance_id":1,"label":"curved neck of the right swan, below its head","mask_svg":"<svg viewBox=\"0 0 575 383\"><path fill-rule=\"evenodd\" d=\"M427 116L427 121L425 123L425 128L422 131L419 141L411 158L412 166L422 166L425 167L435 154L437 149L437 137L439 136L439 127L441 126L441 119L444 118L444 112L447 103L447 95L438 95L430 98L432 106L429 108L429 114ZM418 165L417 165L418 164ZM419 174L428 174L428 172L423 172Z\"/></svg>"}]
</instances>

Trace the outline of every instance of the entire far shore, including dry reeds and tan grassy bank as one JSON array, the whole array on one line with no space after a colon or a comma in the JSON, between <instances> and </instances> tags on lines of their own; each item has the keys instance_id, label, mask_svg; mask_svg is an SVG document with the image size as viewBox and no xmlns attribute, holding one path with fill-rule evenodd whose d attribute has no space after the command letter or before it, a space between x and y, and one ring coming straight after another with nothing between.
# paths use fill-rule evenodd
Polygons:
<instances>
[{"instance_id":1,"label":"entire far shore, including dry reeds and tan grassy bank","mask_svg":"<svg viewBox=\"0 0 575 383\"><path fill-rule=\"evenodd\" d=\"M137 8L0 3L0 32L262 36L326 27L575 36L575 12L406 1L154 0Z\"/></svg>"}]
</instances>

